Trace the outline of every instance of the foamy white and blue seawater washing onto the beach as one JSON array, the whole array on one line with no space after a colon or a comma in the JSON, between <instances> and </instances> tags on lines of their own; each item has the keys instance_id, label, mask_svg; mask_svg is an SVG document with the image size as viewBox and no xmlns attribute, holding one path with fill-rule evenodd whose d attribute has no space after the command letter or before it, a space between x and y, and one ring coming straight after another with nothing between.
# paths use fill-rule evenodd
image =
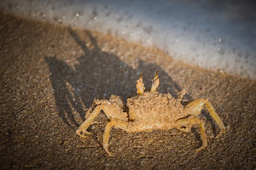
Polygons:
<instances>
[{"instance_id":1,"label":"foamy white and blue seawater washing onto the beach","mask_svg":"<svg viewBox=\"0 0 256 170\"><path fill-rule=\"evenodd\" d=\"M256 11L248 3L143 0L4 0L24 17L108 32L173 58L256 79Z\"/></svg>"}]
</instances>

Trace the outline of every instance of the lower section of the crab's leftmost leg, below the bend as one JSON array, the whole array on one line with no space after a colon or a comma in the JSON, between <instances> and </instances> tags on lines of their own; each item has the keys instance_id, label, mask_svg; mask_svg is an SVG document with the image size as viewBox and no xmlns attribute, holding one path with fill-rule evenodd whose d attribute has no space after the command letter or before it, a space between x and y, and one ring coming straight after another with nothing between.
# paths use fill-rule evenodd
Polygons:
<instances>
[{"instance_id":1,"label":"lower section of the crab's leftmost leg, below the bend","mask_svg":"<svg viewBox=\"0 0 256 170\"><path fill-rule=\"evenodd\" d=\"M92 123L93 119L96 118L96 116L99 114L99 112L102 110L103 105L98 105L96 108L93 110L92 113L87 117L87 119L82 123L82 125L76 130L76 134L78 134L81 137L84 137L84 133L86 134L91 134L87 132L87 128L90 126Z\"/></svg>"}]
</instances>

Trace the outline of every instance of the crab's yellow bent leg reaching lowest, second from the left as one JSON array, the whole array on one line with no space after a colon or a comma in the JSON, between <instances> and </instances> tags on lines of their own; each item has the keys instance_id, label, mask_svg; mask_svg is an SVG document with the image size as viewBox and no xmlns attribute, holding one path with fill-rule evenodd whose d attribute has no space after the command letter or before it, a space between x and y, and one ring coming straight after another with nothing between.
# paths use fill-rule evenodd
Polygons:
<instances>
[{"instance_id":1,"label":"crab's yellow bent leg reaching lowest, second from the left","mask_svg":"<svg viewBox=\"0 0 256 170\"><path fill-rule=\"evenodd\" d=\"M105 149L105 151L108 153L109 156L112 156L112 154L108 151L108 140L109 140L110 130L112 126L119 127L123 130L127 130L128 122L125 122L119 119L111 119L111 121L108 122L108 124L106 125L105 132L103 135L103 148Z\"/></svg>"}]
</instances>

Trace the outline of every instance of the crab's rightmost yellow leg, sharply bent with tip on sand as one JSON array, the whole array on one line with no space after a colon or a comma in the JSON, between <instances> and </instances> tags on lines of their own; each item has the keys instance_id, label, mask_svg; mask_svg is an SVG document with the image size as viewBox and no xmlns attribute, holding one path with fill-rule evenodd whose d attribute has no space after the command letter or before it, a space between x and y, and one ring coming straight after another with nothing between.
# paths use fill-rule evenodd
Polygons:
<instances>
[{"instance_id":1,"label":"crab's rightmost yellow leg, sharply bent with tip on sand","mask_svg":"<svg viewBox=\"0 0 256 170\"><path fill-rule=\"evenodd\" d=\"M215 110L213 109L211 103L208 101L208 99L195 99L192 100L192 102L189 102L189 104L187 104L186 106L184 106L184 109L186 111L192 112L192 115L194 117L197 117L198 114L201 112L201 110L204 107L204 104L206 104L210 114L212 115L213 119L216 121L216 123L218 124L218 126L221 128L221 133L219 133L215 138L218 138L219 136L221 136L222 133L224 133L225 130L225 126L221 120L221 118L218 116L218 114L215 112Z\"/></svg>"}]
</instances>

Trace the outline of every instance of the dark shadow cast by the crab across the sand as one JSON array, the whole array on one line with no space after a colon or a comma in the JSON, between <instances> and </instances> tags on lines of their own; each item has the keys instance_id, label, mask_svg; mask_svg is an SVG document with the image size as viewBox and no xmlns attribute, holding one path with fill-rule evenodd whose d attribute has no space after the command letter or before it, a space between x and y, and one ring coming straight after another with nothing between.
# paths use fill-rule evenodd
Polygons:
<instances>
[{"instance_id":1,"label":"dark shadow cast by the crab across the sand","mask_svg":"<svg viewBox=\"0 0 256 170\"><path fill-rule=\"evenodd\" d=\"M115 94L126 102L128 97L137 95L136 80L140 77L140 72L143 72L146 88L150 88L151 79L158 69L160 87L157 91L176 96L182 90L159 65L139 59L138 69L133 69L115 54L102 51L90 31L84 31L84 36L94 48L87 48L85 40L82 40L76 31L71 28L68 30L84 51L84 55L74 62L56 57L45 57L45 61L49 66L49 78L59 116L71 129L76 130L79 127L74 112L84 121L84 107L89 108L93 99ZM186 95L186 99L192 100L189 95ZM195 135L200 139L200 134Z\"/></svg>"}]
</instances>

